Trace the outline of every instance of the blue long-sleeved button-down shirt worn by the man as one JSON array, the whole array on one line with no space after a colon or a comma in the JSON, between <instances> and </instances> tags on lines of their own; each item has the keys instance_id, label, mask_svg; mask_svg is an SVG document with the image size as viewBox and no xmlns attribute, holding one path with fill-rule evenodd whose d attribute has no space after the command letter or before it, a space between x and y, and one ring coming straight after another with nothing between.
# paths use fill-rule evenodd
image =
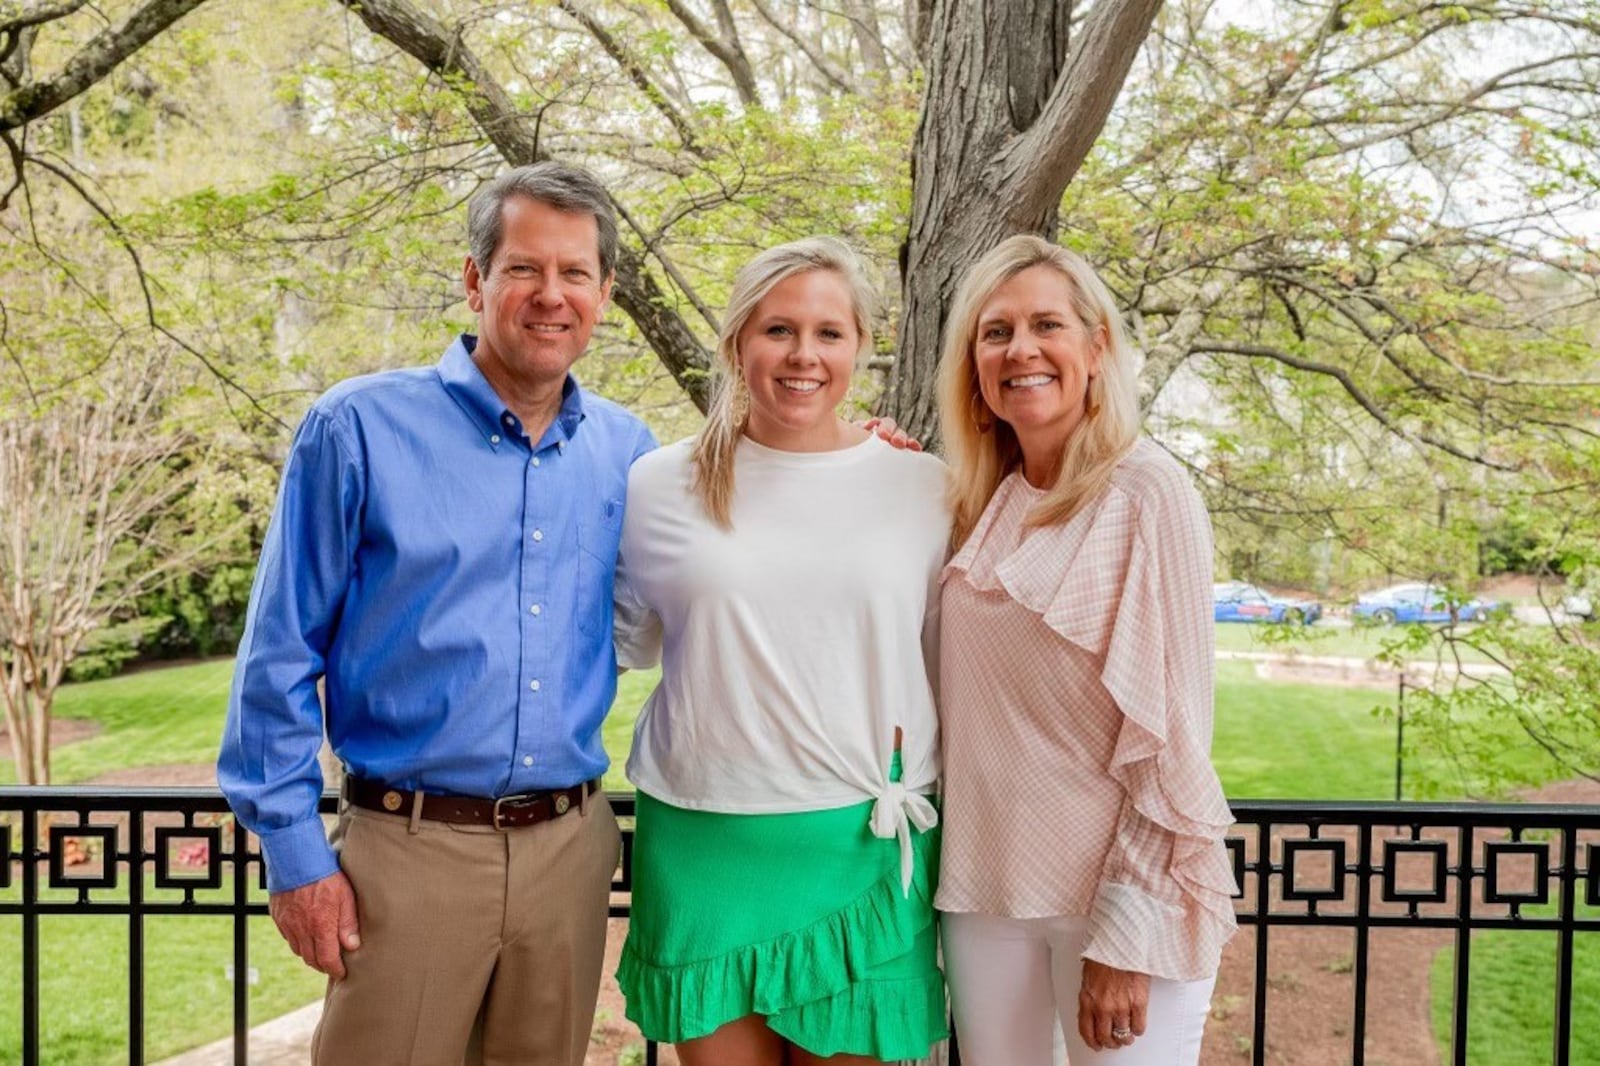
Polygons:
<instances>
[{"instance_id":1,"label":"blue long-sleeved button-down shirt worn by the man","mask_svg":"<svg viewBox=\"0 0 1600 1066\"><path fill-rule=\"evenodd\" d=\"M331 389L290 450L218 759L272 892L338 869L325 720L352 773L397 787L506 795L606 768L627 467L656 442L571 378L528 440L474 344Z\"/></svg>"}]
</instances>

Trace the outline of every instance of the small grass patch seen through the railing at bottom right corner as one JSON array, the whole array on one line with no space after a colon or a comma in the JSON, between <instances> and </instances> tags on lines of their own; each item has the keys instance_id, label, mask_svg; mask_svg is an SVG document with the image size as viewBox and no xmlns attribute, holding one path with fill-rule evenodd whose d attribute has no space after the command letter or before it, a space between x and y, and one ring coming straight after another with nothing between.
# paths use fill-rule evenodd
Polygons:
<instances>
[{"instance_id":1,"label":"small grass patch seen through the railing at bottom right corner","mask_svg":"<svg viewBox=\"0 0 1600 1066\"><path fill-rule=\"evenodd\" d=\"M1550 908L1528 908L1550 914ZM1589 908L1579 917L1597 917ZM1450 1058L1454 1007L1454 948L1434 956L1429 972L1434 1039ZM1600 1066L1600 933L1573 940L1573 1066ZM1467 992L1469 1066L1546 1066L1555 1040L1555 933L1483 930L1472 936Z\"/></svg>"}]
</instances>

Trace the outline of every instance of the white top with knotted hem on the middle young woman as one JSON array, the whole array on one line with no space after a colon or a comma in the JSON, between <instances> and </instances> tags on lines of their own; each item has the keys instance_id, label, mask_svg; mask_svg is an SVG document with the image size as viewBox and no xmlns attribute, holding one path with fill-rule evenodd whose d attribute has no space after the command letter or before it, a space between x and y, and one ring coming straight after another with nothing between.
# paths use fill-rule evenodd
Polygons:
<instances>
[{"instance_id":1,"label":"white top with knotted hem on the middle young woman","mask_svg":"<svg viewBox=\"0 0 1600 1066\"><path fill-rule=\"evenodd\" d=\"M819 453L742 440L734 471L731 530L693 495L686 443L629 475L618 661L659 656L661 683L627 776L733 815L874 800L872 832L909 848L909 826L938 821L923 794L939 779L944 464L877 439Z\"/></svg>"}]
</instances>

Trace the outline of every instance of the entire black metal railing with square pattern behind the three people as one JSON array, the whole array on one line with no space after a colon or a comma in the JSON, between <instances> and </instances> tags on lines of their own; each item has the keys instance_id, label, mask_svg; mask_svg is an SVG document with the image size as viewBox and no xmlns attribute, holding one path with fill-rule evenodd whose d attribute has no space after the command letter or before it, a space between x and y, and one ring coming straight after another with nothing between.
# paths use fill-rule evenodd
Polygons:
<instances>
[{"instance_id":1,"label":"entire black metal railing with square pattern behind the three people","mask_svg":"<svg viewBox=\"0 0 1600 1066\"><path fill-rule=\"evenodd\" d=\"M630 820L630 794L613 795L613 805ZM334 810L333 795L325 797L323 810ZM1579 933L1600 933L1600 807L1240 802L1234 815L1227 847L1240 885L1237 914L1242 935L1253 930L1254 938L1248 949L1253 1063L1269 1060L1274 932L1344 927L1354 935L1347 1032L1355 1066L1373 1053L1366 1024L1373 935L1395 928L1450 935L1454 1013L1446 1058L1456 1066L1467 1063L1469 1050L1472 933L1554 933L1550 1061L1568 1064L1574 1050L1573 944ZM186 850L192 861L174 861ZM146 893L146 877L152 877L155 893ZM624 831L613 917L629 912L630 877L632 834ZM40 917L128 919L128 1061L138 1064L146 1044L144 920L211 914L234 919L234 1061L248 1063L243 975L250 972L248 922L267 914L262 888L261 853L248 834L234 832L232 815L214 791L0 789L0 916L19 916L22 948L19 973L0 973L0 988L21 978L21 1061L48 1061L38 1029ZM0 1048L0 1058L10 1061L10 1055ZM646 1047L646 1061L656 1061L654 1045ZM950 1061L958 1061L954 1047Z\"/></svg>"}]
</instances>

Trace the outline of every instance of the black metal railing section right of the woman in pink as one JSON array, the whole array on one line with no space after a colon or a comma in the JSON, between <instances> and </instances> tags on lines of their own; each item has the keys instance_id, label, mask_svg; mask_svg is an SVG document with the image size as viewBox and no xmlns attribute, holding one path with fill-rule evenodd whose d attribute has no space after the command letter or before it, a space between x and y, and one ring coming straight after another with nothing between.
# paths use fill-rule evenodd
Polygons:
<instances>
[{"instance_id":1,"label":"black metal railing section right of the woman in pink","mask_svg":"<svg viewBox=\"0 0 1600 1066\"><path fill-rule=\"evenodd\" d=\"M1533 804L1234 805L1227 840L1240 928L1254 930L1251 1061L1267 1061L1270 935L1285 927L1354 932L1349 1061L1363 1066L1373 933L1443 930L1454 948L1446 1060L1466 1066L1472 933L1555 935L1554 1047L1573 1056L1573 943L1600 933L1600 807ZM1546 912L1554 906L1554 912ZM1586 912L1579 912L1584 909ZM1587 1034L1589 1040L1600 1039Z\"/></svg>"}]
</instances>

